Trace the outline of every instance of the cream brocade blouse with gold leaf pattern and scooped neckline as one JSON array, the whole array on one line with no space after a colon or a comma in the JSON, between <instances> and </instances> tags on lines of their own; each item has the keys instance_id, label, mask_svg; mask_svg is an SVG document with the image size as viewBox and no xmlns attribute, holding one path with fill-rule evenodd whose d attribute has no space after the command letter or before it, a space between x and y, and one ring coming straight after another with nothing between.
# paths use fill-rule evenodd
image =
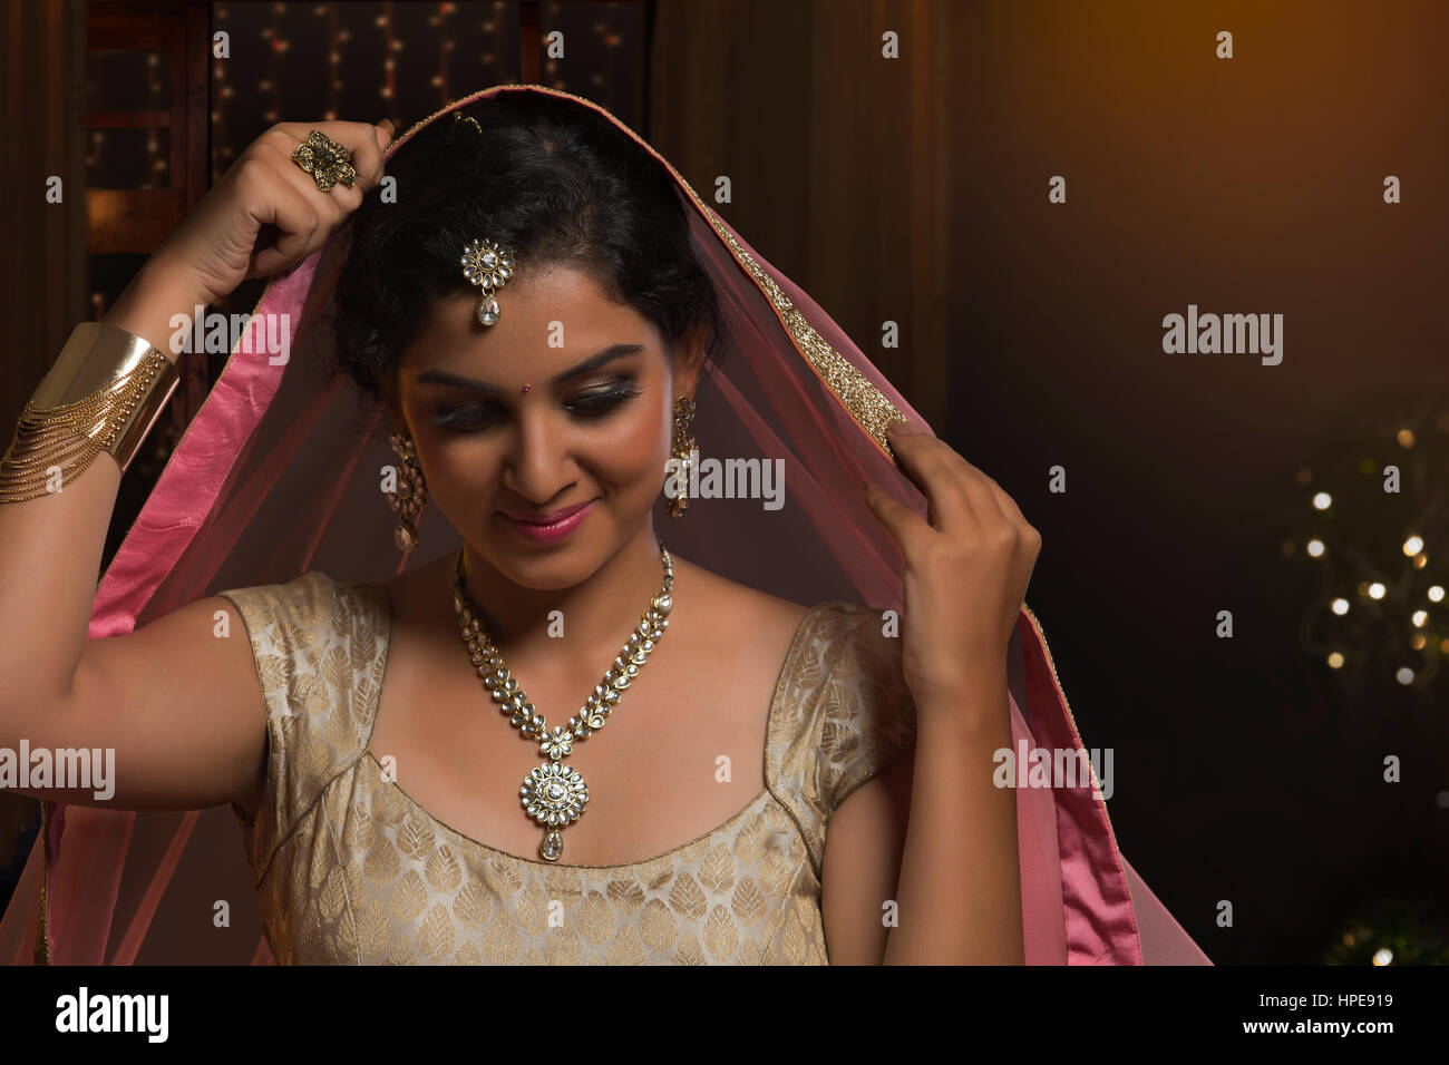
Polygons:
<instances>
[{"instance_id":1,"label":"cream brocade blouse with gold leaf pattern and scooped neckline","mask_svg":"<svg viewBox=\"0 0 1449 1065\"><path fill-rule=\"evenodd\" d=\"M661 855L597 866L480 843L384 777L368 751L391 626L383 588L310 571L220 594L267 700L262 804L255 822L233 811L278 964L829 962L830 813L916 733L880 611L829 601L800 623L753 801Z\"/></svg>"}]
</instances>

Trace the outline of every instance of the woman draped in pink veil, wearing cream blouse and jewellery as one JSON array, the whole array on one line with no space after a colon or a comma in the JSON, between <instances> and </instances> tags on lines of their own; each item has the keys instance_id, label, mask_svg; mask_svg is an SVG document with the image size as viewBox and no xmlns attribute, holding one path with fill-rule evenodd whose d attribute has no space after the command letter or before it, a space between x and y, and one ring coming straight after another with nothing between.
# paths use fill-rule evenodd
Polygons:
<instances>
[{"instance_id":1,"label":"woman draped in pink veil, wearing cream blouse and jewellery","mask_svg":"<svg viewBox=\"0 0 1449 1065\"><path fill-rule=\"evenodd\" d=\"M110 806L29 790L84 804L7 959L243 961L180 917L243 894L229 826L112 809L229 803L255 961L1206 961L1090 771L997 787L997 751L1081 751L1000 487L891 427L848 338L596 104L485 90L377 188L384 145L270 130L107 319L159 343L278 274L106 574L90 636L120 638L0 713L120 764ZM114 480L75 504L90 556Z\"/></svg>"}]
</instances>

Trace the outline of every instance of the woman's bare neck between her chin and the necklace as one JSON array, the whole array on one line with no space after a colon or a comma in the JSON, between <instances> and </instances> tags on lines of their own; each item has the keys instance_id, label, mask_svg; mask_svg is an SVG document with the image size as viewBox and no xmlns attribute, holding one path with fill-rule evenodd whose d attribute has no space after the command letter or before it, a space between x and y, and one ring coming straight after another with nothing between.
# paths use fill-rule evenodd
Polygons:
<instances>
[{"instance_id":1,"label":"woman's bare neck between her chin and the necklace","mask_svg":"<svg viewBox=\"0 0 1449 1065\"><path fill-rule=\"evenodd\" d=\"M475 552L464 551L468 597L500 649L552 640L552 614L561 611L564 646L588 652L607 645L617 653L630 629L649 609L649 600L664 587L664 562L652 522L646 522L587 580L569 588L523 587ZM456 562L456 556L449 558ZM452 575L454 567L449 565L449 582Z\"/></svg>"}]
</instances>

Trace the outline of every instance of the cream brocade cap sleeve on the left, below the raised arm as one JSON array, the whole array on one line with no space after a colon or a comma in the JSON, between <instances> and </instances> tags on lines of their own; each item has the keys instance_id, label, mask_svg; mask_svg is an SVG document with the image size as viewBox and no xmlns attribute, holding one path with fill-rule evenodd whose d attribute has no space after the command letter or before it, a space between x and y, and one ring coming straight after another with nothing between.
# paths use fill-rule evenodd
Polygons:
<instances>
[{"instance_id":1,"label":"cream brocade cap sleeve on the left, below the raised arm","mask_svg":"<svg viewBox=\"0 0 1449 1065\"><path fill-rule=\"evenodd\" d=\"M232 804L259 881L327 781L367 748L385 667L385 591L313 569L217 594L242 617L265 700L267 781L255 820Z\"/></svg>"}]
</instances>

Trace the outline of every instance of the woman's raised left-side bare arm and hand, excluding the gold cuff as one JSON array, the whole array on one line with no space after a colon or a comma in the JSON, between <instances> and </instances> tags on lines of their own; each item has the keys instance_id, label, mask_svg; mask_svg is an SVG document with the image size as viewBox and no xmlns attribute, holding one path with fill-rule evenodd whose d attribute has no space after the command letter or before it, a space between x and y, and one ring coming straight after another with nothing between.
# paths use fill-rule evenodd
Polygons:
<instances>
[{"instance_id":1,"label":"woman's raised left-side bare arm and hand, excluding the gold cuff","mask_svg":"<svg viewBox=\"0 0 1449 1065\"><path fill-rule=\"evenodd\" d=\"M310 125L255 141L183 220L106 316L172 362L172 316L187 320L246 277L310 255L381 178L384 130L316 123L354 154L358 181L332 193L291 164ZM258 246L264 226L280 238ZM220 598L191 603L126 636L88 639L120 467L109 454L59 491L0 504L0 748L114 751L114 794L25 794L120 809L196 809L258 791L262 696L246 632ZM217 611L227 611L219 626ZM229 635L220 635L227 632Z\"/></svg>"}]
</instances>

